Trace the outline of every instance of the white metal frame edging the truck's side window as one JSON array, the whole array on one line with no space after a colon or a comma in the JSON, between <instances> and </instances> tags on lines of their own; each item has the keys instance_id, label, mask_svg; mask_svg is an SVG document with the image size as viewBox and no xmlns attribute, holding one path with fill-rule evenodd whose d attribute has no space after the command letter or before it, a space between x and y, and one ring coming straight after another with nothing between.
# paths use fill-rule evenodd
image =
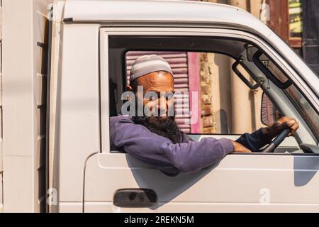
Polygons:
<instances>
[{"instance_id":1,"label":"white metal frame edging the truck's side window","mask_svg":"<svg viewBox=\"0 0 319 227\"><path fill-rule=\"evenodd\" d=\"M163 35L163 36L224 36L227 38L239 38L242 40L250 41L268 53L273 59L278 60L279 67L281 67L289 79L293 81L297 86L303 87L301 85L301 80L299 75L293 70L286 60L281 57L276 51L274 51L267 43L264 43L264 40L246 33L244 31L237 31L231 29L223 28L101 28L100 30L100 94L101 94L101 151L110 153L110 143L109 143L109 100L108 100L108 37L109 35ZM101 64L103 62L103 64ZM106 89L107 88L107 89ZM306 95L305 95L306 96ZM294 109L296 111L296 109ZM299 116L301 118L301 116ZM307 140L311 137L309 134L308 126L302 124L303 132L307 132L308 136L304 137L303 135L298 135L299 141ZM301 127L301 128L302 128ZM302 134L302 133L301 133Z\"/></svg>"}]
</instances>

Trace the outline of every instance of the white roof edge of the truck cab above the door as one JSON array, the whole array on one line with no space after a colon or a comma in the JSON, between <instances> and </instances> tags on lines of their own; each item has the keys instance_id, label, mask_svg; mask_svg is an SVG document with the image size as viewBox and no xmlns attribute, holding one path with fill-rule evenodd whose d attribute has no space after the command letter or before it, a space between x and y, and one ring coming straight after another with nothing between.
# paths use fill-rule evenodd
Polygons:
<instances>
[{"instance_id":1,"label":"white roof edge of the truck cab above the door","mask_svg":"<svg viewBox=\"0 0 319 227\"><path fill-rule=\"evenodd\" d=\"M64 18L74 22L225 24L268 36L272 30L251 13L225 4L201 1L69 0Z\"/></svg>"}]
</instances>

